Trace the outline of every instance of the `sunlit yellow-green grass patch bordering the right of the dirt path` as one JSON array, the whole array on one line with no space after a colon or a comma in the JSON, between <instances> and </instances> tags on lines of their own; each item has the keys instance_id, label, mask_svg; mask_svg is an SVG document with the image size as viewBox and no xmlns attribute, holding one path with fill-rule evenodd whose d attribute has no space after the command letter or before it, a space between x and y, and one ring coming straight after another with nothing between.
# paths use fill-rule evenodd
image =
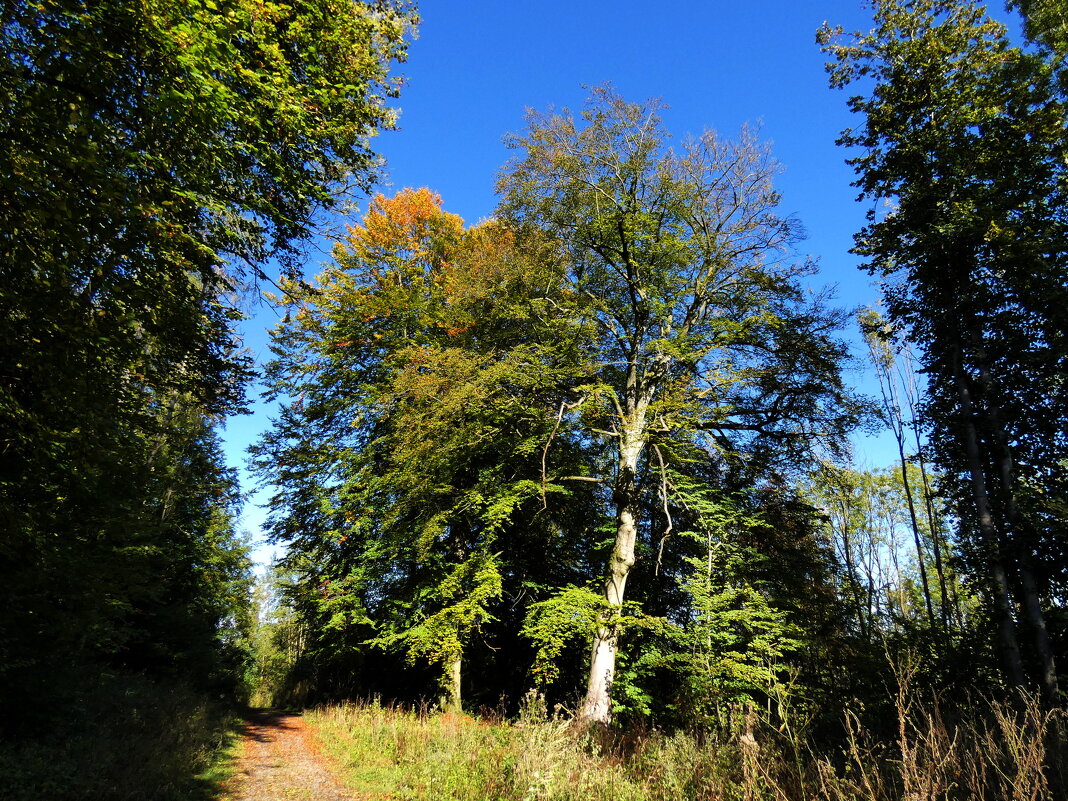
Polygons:
<instances>
[{"instance_id":1,"label":"sunlit yellow-green grass patch bordering the right of the dirt path","mask_svg":"<svg viewBox=\"0 0 1068 801\"><path fill-rule=\"evenodd\" d=\"M515 723L421 714L377 704L309 712L344 779L397 801L675 801L732 798L727 748L648 735L625 747L594 742L563 720ZM705 792L705 790L709 792ZM687 795L689 794L689 795ZM739 796L740 798L740 796Z\"/></svg>"}]
</instances>

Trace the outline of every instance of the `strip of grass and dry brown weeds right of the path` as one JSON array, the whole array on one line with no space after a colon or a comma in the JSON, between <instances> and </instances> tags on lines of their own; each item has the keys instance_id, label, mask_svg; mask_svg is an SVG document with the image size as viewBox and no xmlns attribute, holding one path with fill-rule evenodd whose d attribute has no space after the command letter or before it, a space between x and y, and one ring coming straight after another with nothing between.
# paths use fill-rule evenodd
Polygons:
<instances>
[{"instance_id":1,"label":"strip of grass and dry brown weeds right of the path","mask_svg":"<svg viewBox=\"0 0 1068 801\"><path fill-rule=\"evenodd\" d=\"M837 748L757 726L742 736L592 734L527 712L515 722L383 707L308 716L349 785L397 801L1055 801L1065 714L1033 700L948 721L901 694L893 740L855 714Z\"/></svg>"}]
</instances>

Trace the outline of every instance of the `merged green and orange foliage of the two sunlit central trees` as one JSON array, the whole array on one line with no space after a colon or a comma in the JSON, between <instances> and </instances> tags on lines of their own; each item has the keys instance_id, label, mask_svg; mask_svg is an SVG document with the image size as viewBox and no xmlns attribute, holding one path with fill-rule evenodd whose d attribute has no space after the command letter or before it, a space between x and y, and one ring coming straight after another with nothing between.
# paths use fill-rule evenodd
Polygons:
<instances>
[{"instance_id":1,"label":"merged green and orange foliage of the two sunlit central trees","mask_svg":"<svg viewBox=\"0 0 1068 801\"><path fill-rule=\"evenodd\" d=\"M500 220L379 197L314 285L285 284L269 375L286 407L256 458L320 669L381 646L455 687L478 659L516 697L533 644L534 681L563 695L584 672L568 645L593 635L633 648L608 684L651 713L689 568L669 553L670 576L635 575L632 601L624 586L675 514L669 471L756 492L805 457L813 420L833 445L853 419L841 315L801 292L767 148L665 140L656 108L597 90L581 121L531 117ZM581 587L606 561L595 602ZM740 674L772 659L778 618L738 582L703 602L724 631L752 618Z\"/></svg>"}]
</instances>

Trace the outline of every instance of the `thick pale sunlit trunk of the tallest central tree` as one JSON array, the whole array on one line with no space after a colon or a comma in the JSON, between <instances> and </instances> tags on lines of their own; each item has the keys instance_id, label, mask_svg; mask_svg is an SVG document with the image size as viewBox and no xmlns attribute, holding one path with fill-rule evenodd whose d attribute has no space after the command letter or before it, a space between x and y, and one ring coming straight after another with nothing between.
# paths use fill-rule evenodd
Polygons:
<instances>
[{"instance_id":1,"label":"thick pale sunlit trunk of the tallest central tree","mask_svg":"<svg viewBox=\"0 0 1068 801\"><path fill-rule=\"evenodd\" d=\"M578 720L583 724L607 725L612 720L612 684L615 680L615 655L619 643L619 615L623 611L627 576L634 564L638 540L640 502L638 491L638 459L645 447L645 409L640 405L628 415L619 433L619 474L615 487L615 546L604 580L607 609L601 613L594 635L590 659L590 682Z\"/></svg>"}]
</instances>

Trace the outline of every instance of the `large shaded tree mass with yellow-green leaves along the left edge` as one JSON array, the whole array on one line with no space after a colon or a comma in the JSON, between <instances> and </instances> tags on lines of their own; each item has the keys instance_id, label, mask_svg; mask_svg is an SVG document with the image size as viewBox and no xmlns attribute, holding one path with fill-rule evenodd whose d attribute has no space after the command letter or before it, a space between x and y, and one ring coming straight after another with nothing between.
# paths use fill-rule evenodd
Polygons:
<instances>
[{"instance_id":1,"label":"large shaded tree mass with yellow-green leaves along the left edge","mask_svg":"<svg viewBox=\"0 0 1068 801\"><path fill-rule=\"evenodd\" d=\"M138 554L183 503L168 476L188 430L241 405L231 294L371 179L409 23L403 3L351 0L3 4L7 687L138 629L132 583L163 569Z\"/></svg>"}]
</instances>

